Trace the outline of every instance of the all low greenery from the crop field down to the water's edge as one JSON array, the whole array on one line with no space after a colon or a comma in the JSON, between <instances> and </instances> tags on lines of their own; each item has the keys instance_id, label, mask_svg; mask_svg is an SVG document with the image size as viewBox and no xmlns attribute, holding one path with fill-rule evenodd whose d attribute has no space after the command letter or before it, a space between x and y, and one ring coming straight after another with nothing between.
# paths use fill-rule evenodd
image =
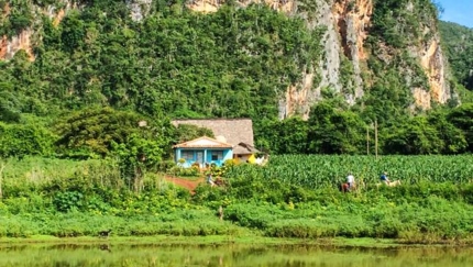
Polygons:
<instances>
[{"instance_id":1,"label":"all low greenery from the crop field down to the water's edge","mask_svg":"<svg viewBox=\"0 0 473 267\"><path fill-rule=\"evenodd\" d=\"M0 237L96 236L105 229L120 236L250 233L389 237L407 243L471 237L473 186L458 176L471 178L468 166L473 164L466 156L385 157L374 166L370 157L273 156L265 167L234 166L234 175L243 173L229 178L227 187L199 186L193 197L154 175L145 178L140 193L133 192L123 186L112 162L38 159L10 159L6 165ZM283 165L290 166L289 171L280 171ZM356 178L362 178L359 170L364 167L365 174L375 174L374 179L378 169L388 169L393 177L404 175L405 182L341 193L333 188L333 177L346 169L340 166L352 169ZM425 179L409 180L416 177ZM367 185L374 180L363 178ZM307 182L317 179L321 182Z\"/></svg>"}]
</instances>

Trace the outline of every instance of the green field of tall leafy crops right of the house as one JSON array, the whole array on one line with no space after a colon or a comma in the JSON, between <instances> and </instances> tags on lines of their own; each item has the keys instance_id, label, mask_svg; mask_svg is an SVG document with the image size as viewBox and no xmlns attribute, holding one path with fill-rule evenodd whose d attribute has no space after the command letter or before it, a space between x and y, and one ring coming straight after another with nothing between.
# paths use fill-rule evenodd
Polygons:
<instances>
[{"instance_id":1,"label":"green field of tall leafy crops right of the house","mask_svg":"<svg viewBox=\"0 0 473 267\"><path fill-rule=\"evenodd\" d=\"M339 185L351 171L358 181L366 185L378 182L383 171L392 180L400 179L405 185L417 182L473 181L473 156L326 156L280 155L272 156L264 166L234 168L228 177L253 176L279 179L308 188Z\"/></svg>"}]
</instances>

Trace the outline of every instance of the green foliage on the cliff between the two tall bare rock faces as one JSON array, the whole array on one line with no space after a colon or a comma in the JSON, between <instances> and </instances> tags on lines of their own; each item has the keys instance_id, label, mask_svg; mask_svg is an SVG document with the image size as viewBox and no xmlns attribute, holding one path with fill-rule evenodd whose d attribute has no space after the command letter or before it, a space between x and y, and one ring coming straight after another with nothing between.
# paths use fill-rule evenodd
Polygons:
<instances>
[{"instance_id":1,"label":"green foliage on the cliff between the two tall bare rock faces","mask_svg":"<svg viewBox=\"0 0 473 267\"><path fill-rule=\"evenodd\" d=\"M430 0L376 0L373 4L365 47L371 54L369 71L364 73L367 88L355 108L367 122L393 125L411 115L413 88L430 90L426 73L409 47L432 41L438 10ZM427 27L431 31L422 31Z\"/></svg>"}]
</instances>

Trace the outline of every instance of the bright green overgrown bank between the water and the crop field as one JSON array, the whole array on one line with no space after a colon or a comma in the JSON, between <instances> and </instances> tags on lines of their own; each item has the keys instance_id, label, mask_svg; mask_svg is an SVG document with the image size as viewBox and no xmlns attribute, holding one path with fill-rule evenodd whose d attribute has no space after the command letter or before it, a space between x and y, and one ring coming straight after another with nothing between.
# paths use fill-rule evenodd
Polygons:
<instances>
[{"instance_id":1,"label":"bright green overgrown bank between the water and the crop field","mask_svg":"<svg viewBox=\"0 0 473 267\"><path fill-rule=\"evenodd\" d=\"M419 180L343 193L330 186L309 188L284 177L258 176L260 169L242 166L235 167L241 175L226 178L226 187L201 183L191 194L152 174L135 190L120 177L100 175L101 166L94 166L51 179L8 176L0 200L0 238L95 238L111 230L111 240L230 236L275 238L275 243L337 238L473 243L472 183Z\"/></svg>"}]
</instances>

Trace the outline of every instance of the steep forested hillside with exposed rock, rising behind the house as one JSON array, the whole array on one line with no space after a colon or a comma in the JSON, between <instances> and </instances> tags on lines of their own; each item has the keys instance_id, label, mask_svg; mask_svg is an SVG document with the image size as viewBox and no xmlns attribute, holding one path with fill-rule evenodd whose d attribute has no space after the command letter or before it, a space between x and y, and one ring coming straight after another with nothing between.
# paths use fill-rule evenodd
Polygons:
<instances>
[{"instance_id":1,"label":"steep forested hillside with exposed rock, rising behind the house","mask_svg":"<svg viewBox=\"0 0 473 267\"><path fill-rule=\"evenodd\" d=\"M140 20L132 3L0 1L1 156L154 147L162 160L183 135L169 119L221 116L252 118L257 146L276 154L364 154L375 123L381 154L472 151L472 107L450 109L470 100L469 63L446 42L455 78L443 75L429 0L300 1L294 12L222 2L208 13L154 0ZM343 19L334 27L319 14L324 4ZM340 34L333 55L328 34ZM426 46L438 49L422 57ZM338 85L323 84L329 68ZM294 116L279 121L283 100Z\"/></svg>"}]
</instances>

